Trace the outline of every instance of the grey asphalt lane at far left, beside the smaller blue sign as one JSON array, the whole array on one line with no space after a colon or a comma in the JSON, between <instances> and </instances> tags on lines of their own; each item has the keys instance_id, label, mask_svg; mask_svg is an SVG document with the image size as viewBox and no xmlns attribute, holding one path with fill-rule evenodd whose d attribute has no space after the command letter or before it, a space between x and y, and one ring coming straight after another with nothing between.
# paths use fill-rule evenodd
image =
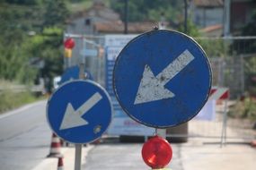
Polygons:
<instances>
[{"instance_id":1,"label":"grey asphalt lane at far left, beside the smaller blue sign","mask_svg":"<svg viewBox=\"0 0 256 170\"><path fill-rule=\"evenodd\" d=\"M46 101L0 115L0 169L28 170L49 154Z\"/></svg>"}]
</instances>

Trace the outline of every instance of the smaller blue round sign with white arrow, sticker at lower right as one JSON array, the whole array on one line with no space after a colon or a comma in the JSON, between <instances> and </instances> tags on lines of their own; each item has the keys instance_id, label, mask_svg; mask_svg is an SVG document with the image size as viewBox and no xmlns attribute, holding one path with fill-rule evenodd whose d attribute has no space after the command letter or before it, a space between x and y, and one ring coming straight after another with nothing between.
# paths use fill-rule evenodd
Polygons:
<instances>
[{"instance_id":1,"label":"smaller blue round sign with white arrow, sticker at lower right","mask_svg":"<svg viewBox=\"0 0 256 170\"><path fill-rule=\"evenodd\" d=\"M97 140L111 121L105 89L93 81L68 81L49 98L47 119L52 131L72 143Z\"/></svg>"}]
</instances>

